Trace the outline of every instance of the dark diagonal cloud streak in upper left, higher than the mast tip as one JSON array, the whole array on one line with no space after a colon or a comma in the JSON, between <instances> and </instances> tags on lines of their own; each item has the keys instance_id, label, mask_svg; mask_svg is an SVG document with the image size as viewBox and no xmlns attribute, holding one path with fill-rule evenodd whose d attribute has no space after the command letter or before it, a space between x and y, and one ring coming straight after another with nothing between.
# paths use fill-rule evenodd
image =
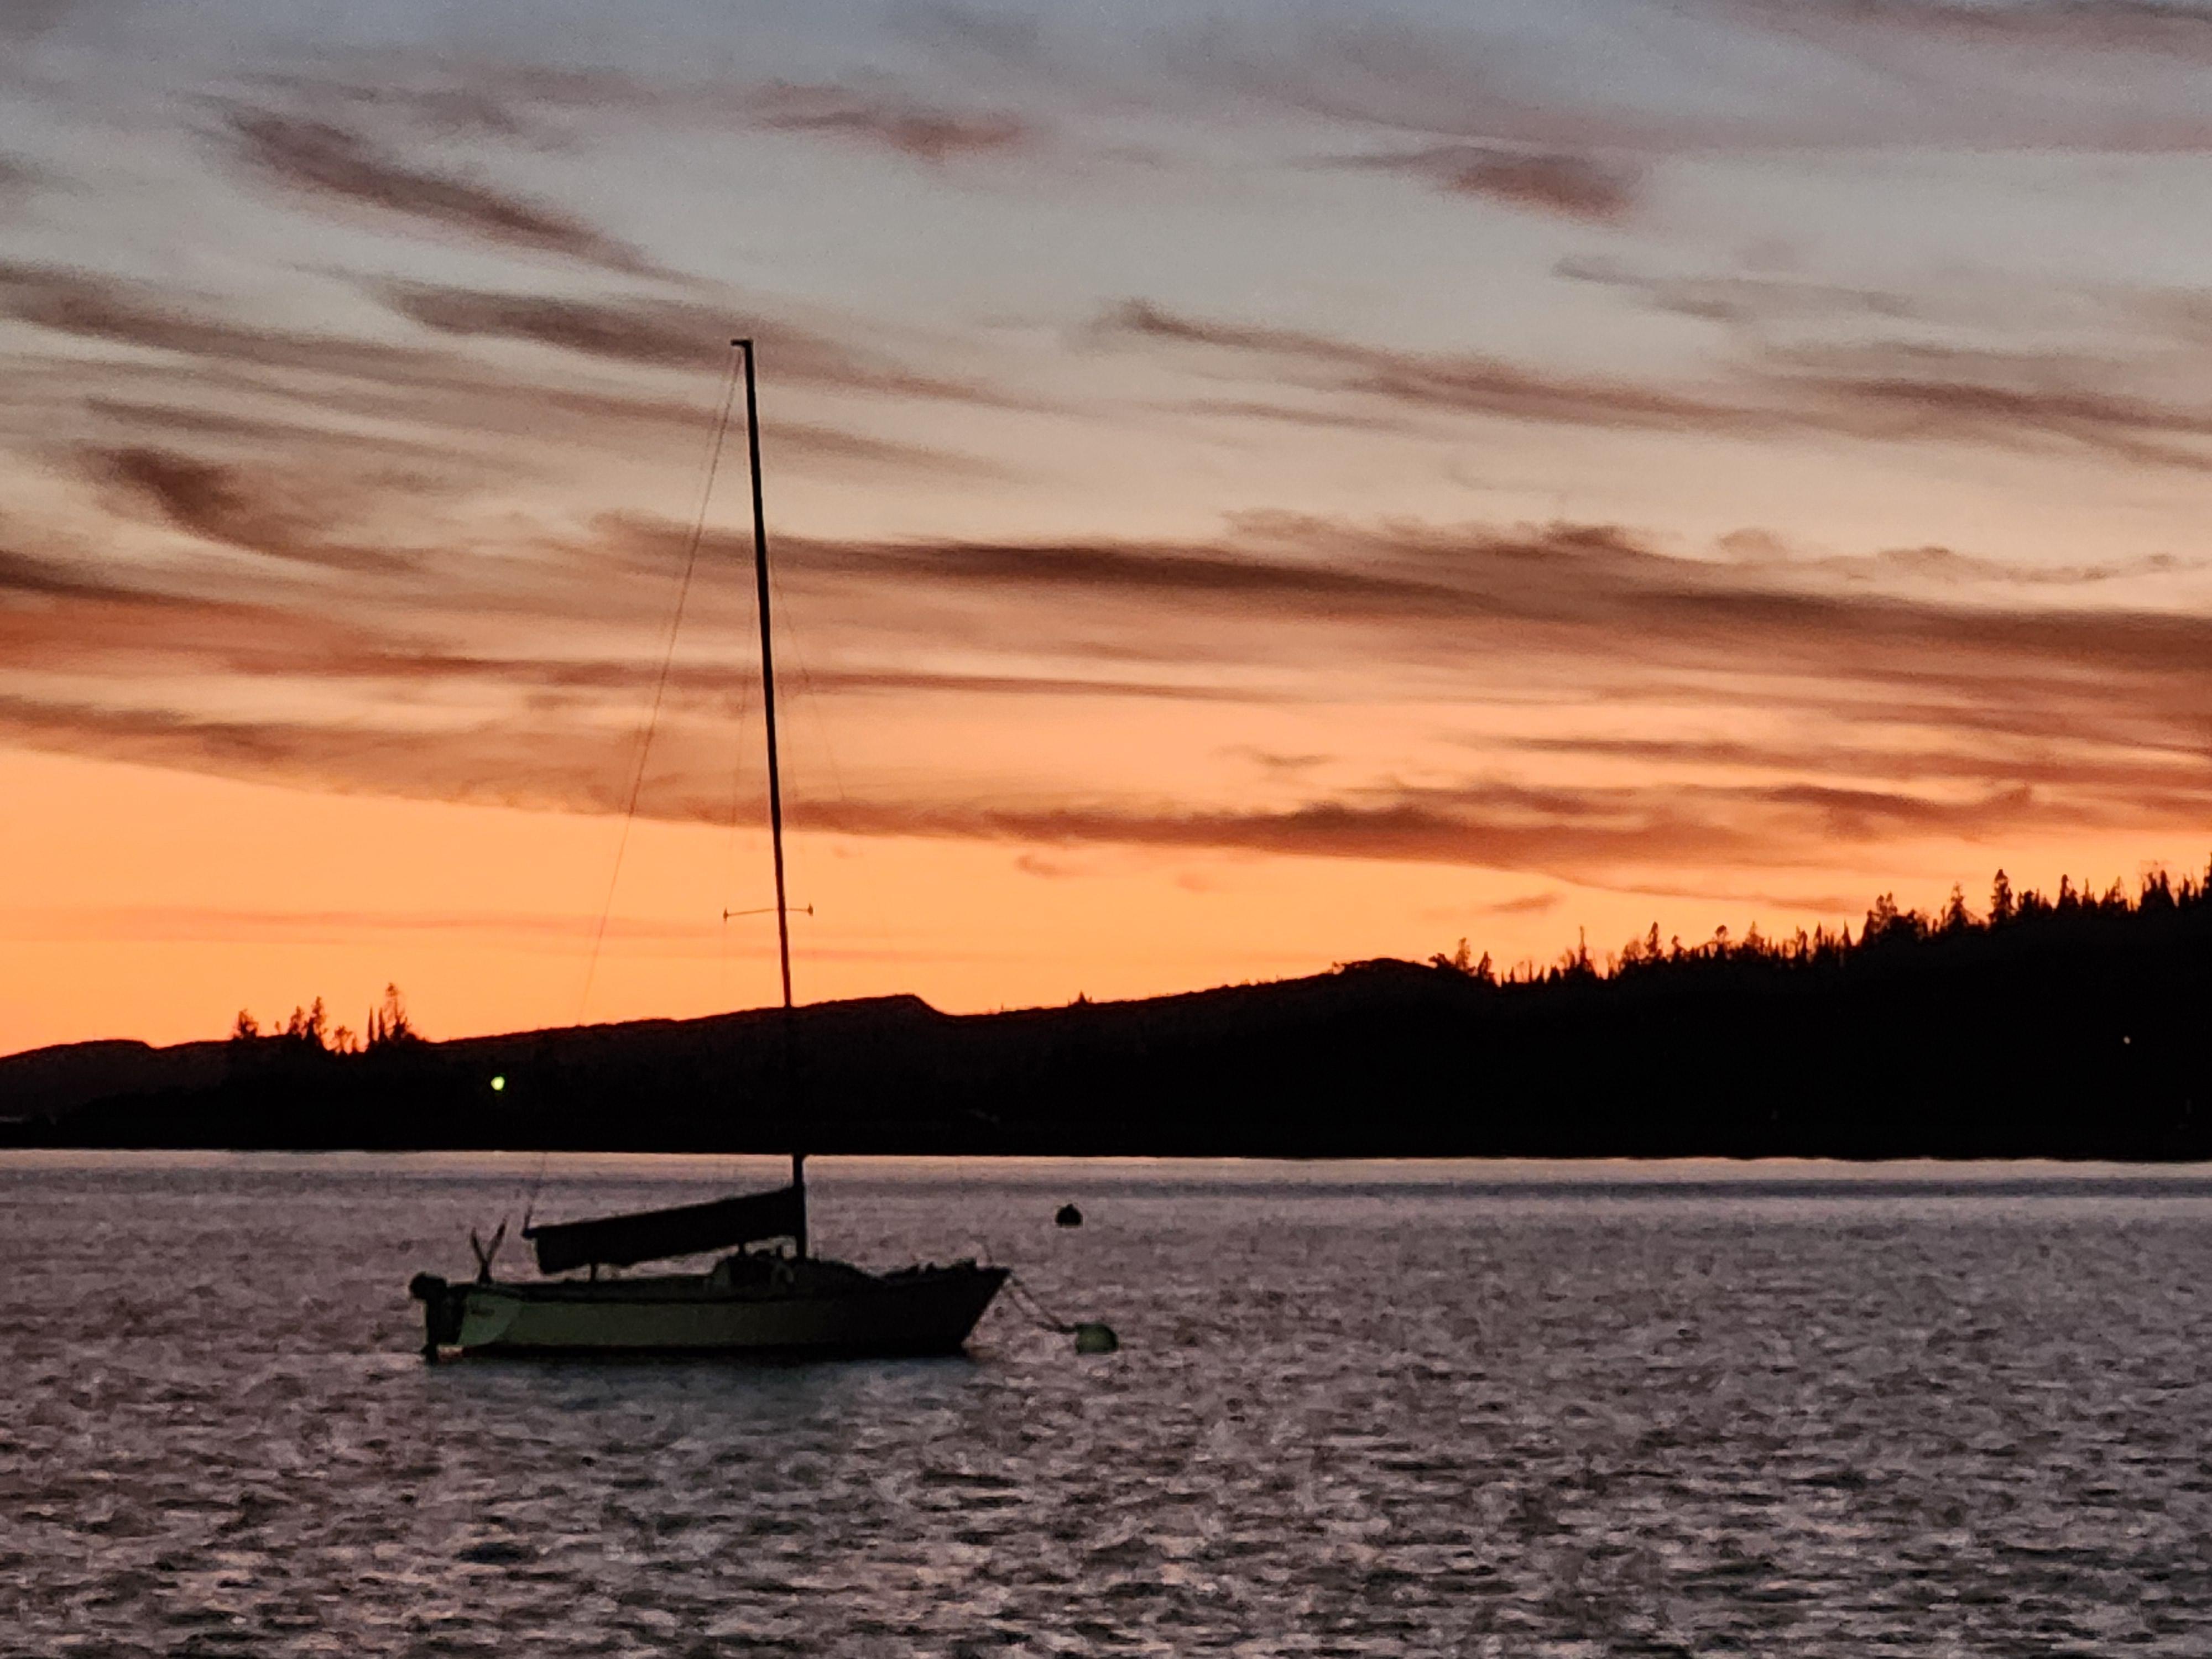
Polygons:
<instances>
[{"instance_id":1,"label":"dark diagonal cloud streak in upper left, higher than the mast tip","mask_svg":"<svg viewBox=\"0 0 2212 1659\"><path fill-rule=\"evenodd\" d=\"M619 272L644 257L573 215L471 179L407 166L356 133L272 111L234 111L230 135L252 170L310 197L374 208L480 241L564 254Z\"/></svg>"}]
</instances>

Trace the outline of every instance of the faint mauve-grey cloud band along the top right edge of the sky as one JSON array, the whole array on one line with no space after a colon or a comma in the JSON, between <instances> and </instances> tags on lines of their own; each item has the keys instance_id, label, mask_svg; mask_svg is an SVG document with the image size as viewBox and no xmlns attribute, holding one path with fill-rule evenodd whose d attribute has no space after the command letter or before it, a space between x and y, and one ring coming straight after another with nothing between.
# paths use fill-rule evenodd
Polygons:
<instances>
[{"instance_id":1,"label":"faint mauve-grey cloud band along the top right edge of the sky","mask_svg":"<svg viewBox=\"0 0 2212 1659\"><path fill-rule=\"evenodd\" d=\"M1135 53L1126 38L1053 31L1051 69L1068 88L1190 119L1243 104L1641 164L1900 148L2194 155L2212 148L2203 88L2185 73L2205 58L2201 18L2157 0L1214 11L1144 33Z\"/></svg>"}]
</instances>

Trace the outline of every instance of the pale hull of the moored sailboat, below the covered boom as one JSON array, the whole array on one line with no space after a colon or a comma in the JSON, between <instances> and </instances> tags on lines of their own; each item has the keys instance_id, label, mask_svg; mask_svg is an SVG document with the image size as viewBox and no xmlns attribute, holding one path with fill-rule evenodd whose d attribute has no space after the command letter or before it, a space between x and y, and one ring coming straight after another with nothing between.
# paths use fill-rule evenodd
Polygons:
<instances>
[{"instance_id":1,"label":"pale hull of the moored sailboat, below the covered boom","mask_svg":"<svg viewBox=\"0 0 2212 1659\"><path fill-rule=\"evenodd\" d=\"M728 1287L706 1274L449 1285L422 1276L425 1354L750 1354L854 1358L956 1354L1006 1279L1004 1267L865 1274L792 1263L776 1283Z\"/></svg>"}]
</instances>

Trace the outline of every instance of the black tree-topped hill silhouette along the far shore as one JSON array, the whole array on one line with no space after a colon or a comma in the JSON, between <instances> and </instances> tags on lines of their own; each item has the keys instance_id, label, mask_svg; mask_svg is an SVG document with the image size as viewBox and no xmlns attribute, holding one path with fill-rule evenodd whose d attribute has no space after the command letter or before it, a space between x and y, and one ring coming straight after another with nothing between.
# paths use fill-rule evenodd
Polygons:
<instances>
[{"instance_id":1,"label":"black tree-topped hill silhouette along the far shore","mask_svg":"<svg viewBox=\"0 0 2212 1659\"><path fill-rule=\"evenodd\" d=\"M2212 898L2059 885L1984 914L1661 942L1500 975L1467 949L1137 1002L918 998L456 1042L387 1002L274 1035L0 1060L44 1146L776 1152L2212 1157ZM392 1015L398 1013L394 1029ZM493 1086L500 1079L500 1086Z\"/></svg>"}]
</instances>

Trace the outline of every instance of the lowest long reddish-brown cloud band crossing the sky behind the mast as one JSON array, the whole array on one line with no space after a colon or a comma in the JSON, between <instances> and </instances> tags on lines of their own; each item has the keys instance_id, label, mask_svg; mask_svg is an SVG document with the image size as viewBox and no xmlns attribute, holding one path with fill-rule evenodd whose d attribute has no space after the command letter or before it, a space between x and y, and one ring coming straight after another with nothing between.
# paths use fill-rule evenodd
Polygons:
<instances>
[{"instance_id":1,"label":"lowest long reddish-brown cloud band crossing the sky behind the mast","mask_svg":"<svg viewBox=\"0 0 2212 1659\"><path fill-rule=\"evenodd\" d=\"M321 728L307 721L190 719L0 697L0 734L155 765L226 774L281 770L323 787L367 787L436 799L615 812L624 734L571 734L555 761L551 730L471 728L436 741L392 726ZM719 790L679 772L648 787L655 816L726 821L726 768L710 745L695 761L723 772ZM1495 781L1429 790L1367 790L1285 810L1177 810L1139 803L1000 805L896 796L790 803L812 834L1000 841L1022 847L1130 847L1259 852L1520 869L1586 880L1606 872L1697 865L1794 867L1834 863L1849 845L1898 836L2002 841L2026 830L2194 830L2212 810L2212 781L2130 799L2000 787L1966 796L1820 785L1626 785L1531 790Z\"/></svg>"}]
</instances>

